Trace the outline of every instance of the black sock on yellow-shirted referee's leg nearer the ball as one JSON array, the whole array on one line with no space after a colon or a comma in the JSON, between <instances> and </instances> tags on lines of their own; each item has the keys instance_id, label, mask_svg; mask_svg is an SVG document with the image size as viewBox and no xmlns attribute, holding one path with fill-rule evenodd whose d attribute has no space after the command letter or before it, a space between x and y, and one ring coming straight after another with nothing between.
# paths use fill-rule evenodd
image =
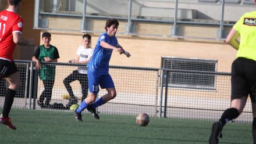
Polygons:
<instances>
[{"instance_id":1,"label":"black sock on yellow-shirted referee's leg nearer the ball","mask_svg":"<svg viewBox=\"0 0 256 144\"><path fill-rule=\"evenodd\" d=\"M219 119L219 121L221 121L222 127L224 127L227 121L233 120L238 116L239 116L239 111L236 108L226 109L222 114L221 119Z\"/></svg>"}]
</instances>

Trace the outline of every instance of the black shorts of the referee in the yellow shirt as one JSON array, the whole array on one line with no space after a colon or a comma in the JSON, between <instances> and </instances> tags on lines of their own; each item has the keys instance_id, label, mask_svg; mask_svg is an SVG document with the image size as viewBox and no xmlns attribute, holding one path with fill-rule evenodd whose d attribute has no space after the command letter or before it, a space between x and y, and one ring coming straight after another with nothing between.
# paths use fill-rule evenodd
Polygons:
<instances>
[{"instance_id":1,"label":"black shorts of the referee in the yellow shirt","mask_svg":"<svg viewBox=\"0 0 256 144\"><path fill-rule=\"evenodd\" d=\"M231 100L250 95L256 102L256 61L238 57L232 64Z\"/></svg>"}]
</instances>

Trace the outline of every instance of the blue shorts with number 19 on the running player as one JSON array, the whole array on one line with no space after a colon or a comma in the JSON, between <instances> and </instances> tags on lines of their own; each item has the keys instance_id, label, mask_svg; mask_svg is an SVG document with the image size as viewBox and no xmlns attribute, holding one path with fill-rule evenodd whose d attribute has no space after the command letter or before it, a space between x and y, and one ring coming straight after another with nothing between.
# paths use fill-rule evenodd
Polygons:
<instances>
[{"instance_id":1,"label":"blue shorts with number 19 on the running player","mask_svg":"<svg viewBox=\"0 0 256 144\"><path fill-rule=\"evenodd\" d=\"M94 71L87 70L88 88L91 93L98 93L99 86L104 88L115 88L114 82L110 74L99 74Z\"/></svg>"}]
</instances>

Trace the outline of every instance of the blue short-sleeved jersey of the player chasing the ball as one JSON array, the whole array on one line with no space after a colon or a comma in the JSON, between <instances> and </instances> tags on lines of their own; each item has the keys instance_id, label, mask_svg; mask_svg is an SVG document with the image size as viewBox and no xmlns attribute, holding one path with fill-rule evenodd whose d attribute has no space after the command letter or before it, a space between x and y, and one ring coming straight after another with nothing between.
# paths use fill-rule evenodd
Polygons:
<instances>
[{"instance_id":1,"label":"blue short-sleeved jersey of the player chasing the ball","mask_svg":"<svg viewBox=\"0 0 256 144\"><path fill-rule=\"evenodd\" d=\"M116 39L116 37L110 38L107 33L101 34L97 40L93 56L91 57L90 62L87 64L87 68L96 73L107 74L109 70L109 60L111 58L113 49L103 48L100 45L101 41L115 47L119 46L118 39Z\"/></svg>"}]
</instances>

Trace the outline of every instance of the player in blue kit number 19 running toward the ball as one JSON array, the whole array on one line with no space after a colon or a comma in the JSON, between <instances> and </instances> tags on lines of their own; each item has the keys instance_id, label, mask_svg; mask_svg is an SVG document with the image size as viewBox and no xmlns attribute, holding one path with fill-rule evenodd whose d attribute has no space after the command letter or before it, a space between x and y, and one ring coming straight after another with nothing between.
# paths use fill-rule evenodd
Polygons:
<instances>
[{"instance_id":1,"label":"player in blue kit number 19 running toward the ball","mask_svg":"<svg viewBox=\"0 0 256 144\"><path fill-rule=\"evenodd\" d=\"M99 119L95 110L96 107L104 105L106 102L116 97L115 85L111 75L108 73L109 60L111 59L113 50L120 54L124 53L127 57L131 56L129 52L125 51L125 49L118 44L118 39L115 36L116 31L118 31L118 26L118 20L106 20L106 32L101 34L97 40L93 56L87 64L88 87L90 94L86 99L84 99L74 113L77 121L83 121L81 118L81 111L86 108L93 113L94 118ZM99 85L102 89L105 88L108 93L95 102L99 92Z\"/></svg>"}]
</instances>

